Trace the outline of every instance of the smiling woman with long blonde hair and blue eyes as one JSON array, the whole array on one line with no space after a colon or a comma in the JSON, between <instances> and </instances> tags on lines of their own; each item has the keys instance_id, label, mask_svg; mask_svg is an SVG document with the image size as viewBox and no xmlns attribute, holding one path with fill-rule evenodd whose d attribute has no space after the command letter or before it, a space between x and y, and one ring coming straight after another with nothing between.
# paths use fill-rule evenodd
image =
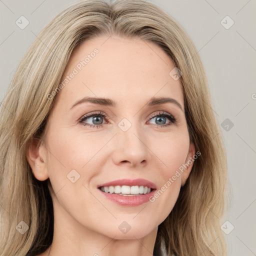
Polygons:
<instances>
[{"instance_id":1,"label":"smiling woman with long blonde hair and blue eyes","mask_svg":"<svg viewBox=\"0 0 256 256\"><path fill-rule=\"evenodd\" d=\"M0 114L1 255L225 255L226 158L204 70L152 3L65 9Z\"/></svg>"}]
</instances>

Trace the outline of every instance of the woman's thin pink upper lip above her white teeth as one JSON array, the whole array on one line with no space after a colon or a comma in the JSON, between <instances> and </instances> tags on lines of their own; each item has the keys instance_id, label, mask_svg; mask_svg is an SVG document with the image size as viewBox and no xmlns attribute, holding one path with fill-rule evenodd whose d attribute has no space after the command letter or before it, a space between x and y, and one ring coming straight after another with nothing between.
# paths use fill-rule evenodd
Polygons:
<instances>
[{"instance_id":1,"label":"woman's thin pink upper lip above her white teeth","mask_svg":"<svg viewBox=\"0 0 256 256\"><path fill-rule=\"evenodd\" d=\"M127 185L127 186L135 186L135 185L138 185L138 186L147 186L147 187L150 187L152 189L155 189L156 188L156 185L149 181L149 180L146 180L146 179L143 179L143 178L136 178L136 179L116 179L116 180L113 180L113 181L109 181L109 182L106 182L104 184L100 184L98 185L98 188L101 187L101 186L117 186L117 185Z\"/></svg>"}]
</instances>

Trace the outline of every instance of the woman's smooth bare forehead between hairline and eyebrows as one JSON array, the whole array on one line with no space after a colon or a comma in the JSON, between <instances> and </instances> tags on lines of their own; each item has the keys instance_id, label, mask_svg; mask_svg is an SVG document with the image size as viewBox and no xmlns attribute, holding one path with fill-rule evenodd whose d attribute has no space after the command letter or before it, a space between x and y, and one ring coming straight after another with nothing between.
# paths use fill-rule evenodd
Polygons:
<instances>
[{"instance_id":1,"label":"woman's smooth bare forehead between hairline and eyebrows","mask_svg":"<svg viewBox=\"0 0 256 256\"><path fill-rule=\"evenodd\" d=\"M69 107L84 96L112 98L117 104L132 106L134 101L146 103L152 96L170 96L183 108L180 81L169 75L174 67L170 57L153 42L94 37L73 50L57 98Z\"/></svg>"}]
</instances>

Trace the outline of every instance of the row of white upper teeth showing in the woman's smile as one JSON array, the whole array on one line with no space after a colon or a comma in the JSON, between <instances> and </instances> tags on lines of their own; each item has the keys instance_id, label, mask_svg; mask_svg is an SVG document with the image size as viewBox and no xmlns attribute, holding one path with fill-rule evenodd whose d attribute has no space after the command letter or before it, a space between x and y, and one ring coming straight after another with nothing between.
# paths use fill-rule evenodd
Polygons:
<instances>
[{"instance_id":1,"label":"row of white upper teeth showing in the woman's smile","mask_svg":"<svg viewBox=\"0 0 256 256\"><path fill-rule=\"evenodd\" d=\"M115 193L119 195L139 195L147 194L151 191L150 187L147 186L101 186L100 190L106 193Z\"/></svg>"}]
</instances>

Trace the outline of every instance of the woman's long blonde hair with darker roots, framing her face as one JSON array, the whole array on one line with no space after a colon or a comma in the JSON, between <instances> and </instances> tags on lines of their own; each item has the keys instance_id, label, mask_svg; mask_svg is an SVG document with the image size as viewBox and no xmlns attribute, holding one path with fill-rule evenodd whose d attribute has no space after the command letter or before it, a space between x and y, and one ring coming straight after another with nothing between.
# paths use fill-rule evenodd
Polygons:
<instances>
[{"instance_id":1,"label":"woman's long blonde hair with darker roots, framing her face","mask_svg":"<svg viewBox=\"0 0 256 256\"><path fill-rule=\"evenodd\" d=\"M154 253L225 255L220 229L227 189L222 136L196 48L169 14L143 0L85 0L66 8L37 35L22 58L0 108L0 251L36 255L52 242L53 210L47 180L35 179L26 158L32 138L42 139L72 50L98 35L139 37L154 42L181 70L189 138L201 155L177 201L158 226ZM16 225L29 229L21 234ZM161 254L162 255L162 254Z\"/></svg>"}]
</instances>

